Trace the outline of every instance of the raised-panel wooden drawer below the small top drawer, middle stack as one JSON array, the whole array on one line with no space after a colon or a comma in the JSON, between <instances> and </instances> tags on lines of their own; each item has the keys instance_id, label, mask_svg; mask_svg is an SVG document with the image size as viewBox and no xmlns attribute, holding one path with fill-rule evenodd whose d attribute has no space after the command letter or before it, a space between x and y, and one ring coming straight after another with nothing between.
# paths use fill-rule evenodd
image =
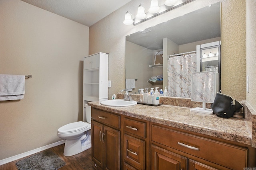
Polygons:
<instances>
[{"instance_id":1,"label":"raised-panel wooden drawer below the small top drawer, middle stack","mask_svg":"<svg viewBox=\"0 0 256 170\"><path fill-rule=\"evenodd\" d=\"M145 141L124 134L124 160L131 165L145 169Z\"/></svg>"}]
</instances>

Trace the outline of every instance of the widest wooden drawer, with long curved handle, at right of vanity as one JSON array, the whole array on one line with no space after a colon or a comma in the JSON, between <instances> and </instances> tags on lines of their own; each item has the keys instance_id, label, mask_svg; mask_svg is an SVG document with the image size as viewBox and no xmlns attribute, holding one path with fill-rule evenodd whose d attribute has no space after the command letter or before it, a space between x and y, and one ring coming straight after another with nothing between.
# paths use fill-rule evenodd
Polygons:
<instances>
[{"instance_id":1,"label":"widest wooden drawer, with long curved handle, at right of vanity","mask_svg":"<svg viewBox=\"0 0 256 170\"><path fill-rule=\"evenodd\" d=\"M248 149L152 125L152 141L231 169L247 165Z\"/></svg>"}]
</instances>

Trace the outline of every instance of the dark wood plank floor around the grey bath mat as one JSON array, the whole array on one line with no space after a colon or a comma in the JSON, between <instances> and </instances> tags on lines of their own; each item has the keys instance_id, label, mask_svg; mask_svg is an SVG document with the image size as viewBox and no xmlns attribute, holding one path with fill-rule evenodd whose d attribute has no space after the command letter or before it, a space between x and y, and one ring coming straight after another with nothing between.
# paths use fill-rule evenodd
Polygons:
<instances>
[{"instance_id":1,"label":"dark wood plank floor around the grey bath mat","mask_svg":"<svg viewBox=\"0 0 256 170\"><path fill-rule=\"evenodd\" d=\"M94 170L92 168L93 162L91 157L91 153L92 153L91 148L85 150L84 152L76 154L74 156L64 156L63 155L64 145L65 144L62 144L62 145L48 149L58 154L60 158L62 158L62 160L66 162L66 165L60 168L59 170ZM21 158L21 159L24 159L24 158ZM9 162L7 164L1 165L0 170L17 170L15 163L21 159L14 160L13 162Z\"/></svg>"}]
</instances>

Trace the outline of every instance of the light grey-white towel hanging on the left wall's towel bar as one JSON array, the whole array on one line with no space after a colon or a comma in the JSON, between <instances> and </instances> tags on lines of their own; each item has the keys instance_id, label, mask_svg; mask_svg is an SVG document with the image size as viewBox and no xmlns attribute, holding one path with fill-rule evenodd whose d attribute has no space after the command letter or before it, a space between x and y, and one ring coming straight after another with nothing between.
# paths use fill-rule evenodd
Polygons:
<instances>
[{"instance_id":1,"label":"light grey-white towel hanging on the left wall's towel bar","mask_svg":"<svg viewBox=\"0 0 256 170\"><path fill-rule=\"evenodd\" d=\"M25 94L25 76L0 74L0 101L20 100Z\"/></svg>"}]
</instances>

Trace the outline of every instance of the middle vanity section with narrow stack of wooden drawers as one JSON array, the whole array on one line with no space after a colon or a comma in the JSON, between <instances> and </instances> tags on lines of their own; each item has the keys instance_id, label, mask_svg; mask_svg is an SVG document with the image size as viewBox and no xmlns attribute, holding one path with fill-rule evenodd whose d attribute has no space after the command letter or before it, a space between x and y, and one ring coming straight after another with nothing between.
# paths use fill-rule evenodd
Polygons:
<instances>
[{"instance_id":1,"label":"middle vanity section with narrow stack of wooden drawers","mask_svg":"<svg viewBox=\"0 0 256 170\"><path fill-rule=\"evenodd\" d=\"M149 122L124 116L123 127L123 169L148 170Z\"/></svg>"}]
</instances>

